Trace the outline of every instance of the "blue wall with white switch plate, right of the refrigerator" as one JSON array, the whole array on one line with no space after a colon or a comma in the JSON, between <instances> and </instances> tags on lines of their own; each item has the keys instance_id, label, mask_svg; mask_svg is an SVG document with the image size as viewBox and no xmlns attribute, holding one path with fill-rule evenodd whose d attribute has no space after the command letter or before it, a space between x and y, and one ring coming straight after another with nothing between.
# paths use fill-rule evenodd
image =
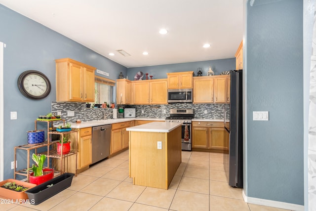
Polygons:
<instances>
[{"instance_id":1,"label":"blue wall with white switch plate, right of the refrigerator","mask_svg":"<svg viewBox=\"0 0 316 211\"><path fill-rule=\"evenodd\" d=\"M246 20L245 193L304 205L303 1L248 3Z\"/></svg>"}]
</instances>

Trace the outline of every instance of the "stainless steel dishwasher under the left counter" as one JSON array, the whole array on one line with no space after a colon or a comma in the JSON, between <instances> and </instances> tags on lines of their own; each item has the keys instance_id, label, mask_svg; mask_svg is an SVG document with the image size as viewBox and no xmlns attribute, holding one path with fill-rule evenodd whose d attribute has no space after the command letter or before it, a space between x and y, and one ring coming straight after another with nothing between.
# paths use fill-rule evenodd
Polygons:
<instances>
[{"instance_id":1,"label":"stainless steel dishwasher under the left counter","mask_svg":"<svg viewBox=\"0 0 316 211\"><path fill-rule=\"evenodd\" d=\"M92 127L92 164L109 157L112 125Z\"/></svg>"}]
</instances>

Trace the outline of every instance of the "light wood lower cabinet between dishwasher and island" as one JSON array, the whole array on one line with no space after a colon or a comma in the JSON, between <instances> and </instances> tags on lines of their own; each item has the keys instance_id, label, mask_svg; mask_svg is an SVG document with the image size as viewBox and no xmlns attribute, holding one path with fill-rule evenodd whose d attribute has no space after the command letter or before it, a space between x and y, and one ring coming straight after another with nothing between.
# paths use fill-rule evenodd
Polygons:
<instances>
[{"instance_id":1,"label":"light wood lower cabinet between dishwasher and island","mask_svg":"<svg viewBox=\"0 0 316 211\"><path fill-rule=\"evenodd\" d=\"M126 127L132 127L134 125L132 122L134 121L112 124L111 155L128 148L129 133Z\"/></svg>"}]
</instances>

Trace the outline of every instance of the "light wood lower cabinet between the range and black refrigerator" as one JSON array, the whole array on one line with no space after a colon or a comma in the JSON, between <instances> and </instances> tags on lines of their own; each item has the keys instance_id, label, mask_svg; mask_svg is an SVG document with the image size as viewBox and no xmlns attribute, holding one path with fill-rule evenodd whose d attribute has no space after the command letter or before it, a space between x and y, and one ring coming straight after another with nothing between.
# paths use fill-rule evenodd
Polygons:
<instances>
[{"instance_id":1,"label":"light wood lower cabinet between the range and black refrigerator","mask_svg":"<svg viewBox=\"0 0 316 211\"><path fill-rule=\"evenodd\" d=\"M193 122L192 148L229 150L229 140L224 137L222 122Z\"/></svg>"}]
</instances>

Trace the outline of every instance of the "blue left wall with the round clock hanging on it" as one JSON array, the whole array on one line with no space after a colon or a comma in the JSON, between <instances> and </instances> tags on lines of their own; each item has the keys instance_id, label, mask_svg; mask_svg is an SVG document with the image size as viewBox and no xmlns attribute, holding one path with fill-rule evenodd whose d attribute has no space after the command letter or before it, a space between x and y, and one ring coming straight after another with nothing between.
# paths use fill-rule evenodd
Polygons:
<instances>
[{"instance_id":1,"label":"blue left wall with the round clock hanging on it","mask_svg":"<svg viewBox=\"0 0 316 211\"><path fill-rule=\"evenodd\" d=\"M56 100L55 59L70 57L110 73L109 78L113 80L118 79L119 72L126 75L127 69L1 4L0 20L0 41L6 44L3 118L4 179L7 179L13 178L14 147L27 143L26 131L34 130L34 120L49 113L51 101ZM26 70L38 70L49 78L52 88L48 97L31 100L20 93L17 80ZM17 120L10 120L10 111L17 111ZM25 157L19 152L18 168L23 167L26 167Z\"/></svg>"}]
</instances>

